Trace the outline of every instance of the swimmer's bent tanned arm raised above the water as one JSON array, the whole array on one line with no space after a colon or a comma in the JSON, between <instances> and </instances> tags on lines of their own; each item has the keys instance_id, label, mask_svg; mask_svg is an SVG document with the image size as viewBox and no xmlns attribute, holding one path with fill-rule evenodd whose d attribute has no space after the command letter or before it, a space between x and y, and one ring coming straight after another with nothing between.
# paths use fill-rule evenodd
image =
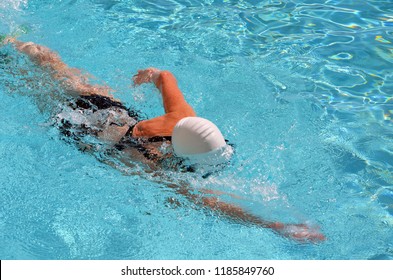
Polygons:
<instances>
[{"instance_id":1,"label":"swimmer's bent tanned arm raised above the water","mask_svg":"<svg viewBox=\"0 0 393 280\"><path fill-rule=\"evenodd\" d=\"M194 109L185 100L177 85L176 78L171 72L148 68L139 70L133 79L136 85L154 83L162 94L165 109L165 115L138 123L133 130L133 136L170 136L179 120L196 116Z\"/></svg>"}]
</instances>

